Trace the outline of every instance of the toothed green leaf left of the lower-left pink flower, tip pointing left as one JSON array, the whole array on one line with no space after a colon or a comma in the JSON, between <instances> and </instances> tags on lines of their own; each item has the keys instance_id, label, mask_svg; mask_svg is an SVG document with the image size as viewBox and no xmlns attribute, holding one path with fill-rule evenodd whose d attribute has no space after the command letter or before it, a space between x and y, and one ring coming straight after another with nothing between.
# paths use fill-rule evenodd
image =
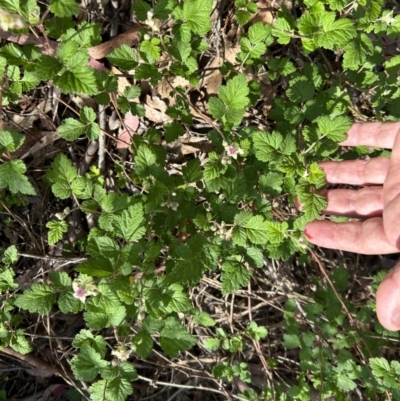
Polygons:
<instances>
[{"instance_id":1,"label":"toothed green leaf left of the lower-left pink flower, tip pointing left","mask_svg":"<svg viewBox=\"0 0 400 401\"><path fill-rule=\"evenodd\" d=\"M24 291L15 300L18 308L26 309L31 313L45 315L49 313L56 299L55 290L49 285L34 283L30 290Z\"/></svg>"}]
</instances>

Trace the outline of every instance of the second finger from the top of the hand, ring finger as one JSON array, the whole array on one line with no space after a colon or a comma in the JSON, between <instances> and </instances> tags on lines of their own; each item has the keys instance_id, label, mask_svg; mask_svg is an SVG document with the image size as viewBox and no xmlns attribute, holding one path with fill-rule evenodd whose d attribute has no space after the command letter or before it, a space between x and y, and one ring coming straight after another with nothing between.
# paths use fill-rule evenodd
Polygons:
<instances>
[{"instance_id":1,"label":"second finger from the top of the hand, ring finger","mask_svg":"<svg viewBox=\"0 0 400 401\"><path fill-rule=\"evenodd\" d=\"M383 184L389 171L390 159L346 160L318 164L329 184L374 185Z\"/></svg>"}]
</instances>

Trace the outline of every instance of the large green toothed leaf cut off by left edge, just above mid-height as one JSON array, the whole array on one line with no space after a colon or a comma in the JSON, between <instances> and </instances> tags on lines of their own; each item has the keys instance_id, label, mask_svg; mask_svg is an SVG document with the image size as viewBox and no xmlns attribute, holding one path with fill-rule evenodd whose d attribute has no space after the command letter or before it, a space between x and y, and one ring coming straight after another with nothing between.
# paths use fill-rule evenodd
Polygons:
<instances>
[{"instance_id":1,"label":"large green toothed leaf cut off by left edge, just above mid-height","mask_svg":"<svg viewBox=\"0 0 400 401\"><path fill-rule=\"evenodd\" d=\"M0 165L0 189L8 188L13 194L36 195L32 184L24 175L26 171L22 160L11 160Z\"/></svg>"}]
</instances>

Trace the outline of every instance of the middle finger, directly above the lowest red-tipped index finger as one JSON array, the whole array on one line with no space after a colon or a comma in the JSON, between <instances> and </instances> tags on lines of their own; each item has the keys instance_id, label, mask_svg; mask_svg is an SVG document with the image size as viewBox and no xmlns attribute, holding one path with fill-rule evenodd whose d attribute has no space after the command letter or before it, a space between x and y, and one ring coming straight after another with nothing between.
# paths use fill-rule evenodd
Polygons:
<instances>
[{"instance_id":1,"label":"middle finger, directly above the lowest red-tipped index finger","mask_svg":"<svg viewBox=\"0 0 400 401\"><path fill-rule=\"evenodd\" d=\"M366 187L357 191L349 189L332 189L324 194L328 206L324 214L347 217L382 216L382 187Z\"/></svg>"}]
</instances>

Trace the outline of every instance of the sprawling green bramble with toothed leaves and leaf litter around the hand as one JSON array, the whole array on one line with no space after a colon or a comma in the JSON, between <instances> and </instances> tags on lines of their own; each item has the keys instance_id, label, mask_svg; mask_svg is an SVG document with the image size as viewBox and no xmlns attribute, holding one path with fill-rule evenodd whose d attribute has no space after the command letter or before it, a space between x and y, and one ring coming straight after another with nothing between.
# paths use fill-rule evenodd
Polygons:
<instances>
[{"instance_id":1,"label":"sprawling green bramble with toothed leaves and leaf litter around the hand","mask_svg":"<svg viewBox=\"0 0 400 401\"><path fill-rule=\"evenodd\" d=\"M319 161L386 155L338 143L399 118L396 5L114 3L0 0L3 352L70 399L399 400L378 263L302 233Z\"/></svg>"}]
</instances>

